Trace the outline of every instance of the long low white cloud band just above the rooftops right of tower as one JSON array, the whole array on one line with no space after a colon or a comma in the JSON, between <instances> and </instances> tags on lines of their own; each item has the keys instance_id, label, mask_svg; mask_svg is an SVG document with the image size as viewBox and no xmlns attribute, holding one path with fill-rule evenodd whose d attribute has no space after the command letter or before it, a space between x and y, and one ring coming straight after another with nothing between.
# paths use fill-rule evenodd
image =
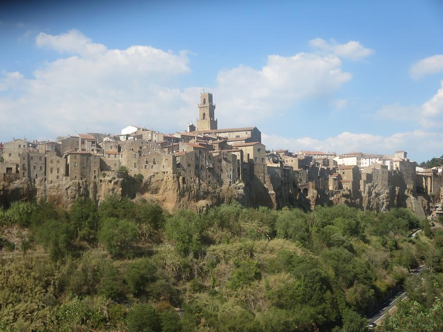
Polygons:
<instances>
[{"instance_id":1,"label":"long low white cloud band just above the rooftops right of tower","mask_svg":"<svg viewBox=\"0 0 443 332\"><path fill-rule=\"evenodd\" d=\"M267 149L289 149L290 151L392 153L396 150L406 150L409 152L408 157L415 160L421 160L420 158L429 155L440 155L439 153L443 150L443 133L429 133L422 130L394 133L390 136L343 132L324 140L262 134L262 141Z\"/></svg>"}]
</instances>

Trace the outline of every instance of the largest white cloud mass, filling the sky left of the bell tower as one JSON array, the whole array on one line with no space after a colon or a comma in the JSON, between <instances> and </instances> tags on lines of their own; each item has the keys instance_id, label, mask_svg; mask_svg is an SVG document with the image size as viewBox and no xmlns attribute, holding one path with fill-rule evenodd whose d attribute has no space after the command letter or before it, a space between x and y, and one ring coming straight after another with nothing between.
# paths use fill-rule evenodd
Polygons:
<instances>
[{"instance_id":1,"label":"largest white cloud mass, filling the sky left of the bell tower","mask_svg":"<svg viewBox=\"0 0 443 332\"><path fill-rule=\"evenodd\" d=\"M45 63L32 78L0 75L0 117L8 119L0 122L4 139L116 132L129 123L154 128L187 123L189 113L181 112L188 106L186 91L175 87L190 72L185 52L150 46L111 50L75 30L40 33L36 44L74 55Z\"/></svg>"}]
</instances>

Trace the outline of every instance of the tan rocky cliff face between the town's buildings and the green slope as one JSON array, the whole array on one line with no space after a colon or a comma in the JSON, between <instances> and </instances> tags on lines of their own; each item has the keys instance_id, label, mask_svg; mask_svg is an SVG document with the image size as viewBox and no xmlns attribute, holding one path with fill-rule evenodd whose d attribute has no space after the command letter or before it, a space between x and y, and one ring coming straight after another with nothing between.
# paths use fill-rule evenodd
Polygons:
<instances>
[{"instance_id":1,"label":"tan rocky cliff face between the town's buildings and the green slope","mask_svg":"<svg viewBox=\"0 0 443 332\"><path fill-rule=\"evenodd\" d=\"M107 195L118 194L132 199L156 201L168 211L191 209L206 211L209 207L236 200L247 207L283 206L298 207L311 211L317 205L346 204L365 211L383 212L396 207L410 207L420 218L432 209L426 197L412 196L408 191L391 186L382 189L377 184L366 186L365 192L352 195L350 190L325 192L313 188L299 194L282 194L265 187L259 181L211 186L198 179L185 179L176 174L155 176L139 183L130 177L119 177L108 172L97 181L68 181L67 179L49 184L42 179L0 182L0 206L7 207L18 200L46 199L57 206L69 209L77 197L89 197L100 202ZM357 197L355 197L357 196Z\"/></svg>"}]
</instances>

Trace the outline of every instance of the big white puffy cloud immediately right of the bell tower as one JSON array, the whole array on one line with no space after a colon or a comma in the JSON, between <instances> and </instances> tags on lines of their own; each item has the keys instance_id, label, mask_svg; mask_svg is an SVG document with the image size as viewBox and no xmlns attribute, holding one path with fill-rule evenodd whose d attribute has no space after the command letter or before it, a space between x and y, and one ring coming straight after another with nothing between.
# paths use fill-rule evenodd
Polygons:
<instances>
[{"instance_id":1,"label":"big white puffy cloud immediately right of the bell tower","mask_svg":"<svg viewBox=\"0 0 443 332\"><path fill-rule=\"evenodd\" d=\"M235 124L251 124L251 119L273 117L302 100L328 97L351 77L331 54L272 55L261 70L244 65L222 70L212 90L219 116Z\"/></svg>"}]
</instances>

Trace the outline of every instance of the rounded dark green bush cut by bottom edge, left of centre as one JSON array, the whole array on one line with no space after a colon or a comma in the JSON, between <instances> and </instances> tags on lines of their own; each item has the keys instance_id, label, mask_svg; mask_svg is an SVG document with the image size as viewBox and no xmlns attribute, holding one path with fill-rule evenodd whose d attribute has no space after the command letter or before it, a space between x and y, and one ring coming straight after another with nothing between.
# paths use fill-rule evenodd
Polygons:
<instances>
[{"instance_id":1,"label":"rounded dark green bush cut by bottom edge, left of centre","mask_svg":"<svg viewBox=\"0 0 443 332\"><path fill-rule=\"evenodd\" d=\"M135 304L127 314L129 332L159 332L160 320L153 306Z\"/></svg>"}]
</instances>

